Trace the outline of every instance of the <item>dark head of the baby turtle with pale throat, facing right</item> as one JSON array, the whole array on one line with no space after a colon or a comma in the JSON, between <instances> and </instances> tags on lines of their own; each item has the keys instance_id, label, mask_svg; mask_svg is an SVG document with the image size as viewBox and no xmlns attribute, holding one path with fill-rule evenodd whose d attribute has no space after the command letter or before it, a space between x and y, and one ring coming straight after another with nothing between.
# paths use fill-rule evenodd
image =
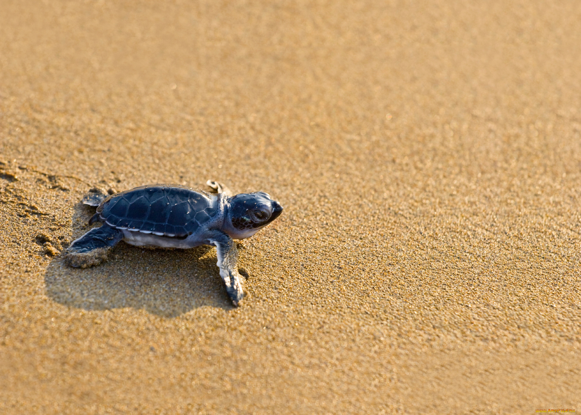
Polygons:
<instances>
[{"instance_id":1,"label":"dark head of the baby turtle with pale throat, facing right","mask_svg":"<svg viewBox=\"0 0 581 415\"><path fill-rule=\"evenodd\" d=\"M264 192L241 193L229 201L222 230L234 239L251 237L282 212L282 206Z\"/></svg>"}]
</instances>

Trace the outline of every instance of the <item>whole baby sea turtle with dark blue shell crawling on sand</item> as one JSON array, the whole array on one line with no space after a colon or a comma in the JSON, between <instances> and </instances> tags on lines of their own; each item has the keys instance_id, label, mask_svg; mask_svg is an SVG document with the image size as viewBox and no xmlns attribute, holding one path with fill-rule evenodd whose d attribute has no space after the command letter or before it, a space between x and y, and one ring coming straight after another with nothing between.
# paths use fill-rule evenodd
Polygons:
<instances>
[{"instance_id":1,"label":"whole baby sea turtle with dark blue shell crawling on sand","mask_svg":"<svg viewBox=\"0 0 581 415\"><path fill-rule=\"evenodd\" d=\"M106 259L119 241L137 246L193 248L214 245L220 277L234 305L242 300L238 251L232 239L251 237L277 219L282 206L264 192L232 196L224 185L207 181L211 194L177 184L155 184L114 195L89 194L86 205L97 206L89 224L102 223L73 241L64 256L73 267L85 268Z\"/></svg>"}]
</instances>

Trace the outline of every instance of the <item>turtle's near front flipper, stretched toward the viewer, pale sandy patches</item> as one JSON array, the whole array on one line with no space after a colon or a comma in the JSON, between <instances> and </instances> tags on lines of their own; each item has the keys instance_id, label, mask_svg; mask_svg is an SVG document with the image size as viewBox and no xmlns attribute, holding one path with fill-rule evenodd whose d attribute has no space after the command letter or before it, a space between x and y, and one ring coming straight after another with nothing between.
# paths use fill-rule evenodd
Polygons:
<instances>
[{"instance_id":1,"label":"turtle's near front flipper, stretched toward the viewer, pale sandy patches","mask_svg":"<svg viewBox=\"0 0 581 415\"><path fill-rule=\"evenodd\" d=\"M218 230L209 231L206 237L210 245L216 246L220 277L224 280L232 304L238 306L244 297L244 291L241 275L236 268L236 259L238 259L236 243L224 232Z\"/></svg>"}]
</instances>

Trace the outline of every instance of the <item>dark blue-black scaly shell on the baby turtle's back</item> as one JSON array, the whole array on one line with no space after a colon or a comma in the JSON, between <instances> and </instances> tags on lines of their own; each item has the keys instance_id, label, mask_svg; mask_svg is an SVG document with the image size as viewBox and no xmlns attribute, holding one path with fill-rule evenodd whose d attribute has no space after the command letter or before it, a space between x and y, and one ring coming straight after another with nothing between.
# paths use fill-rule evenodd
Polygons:
<instances>
[{"instance_id":1,"label":"dark blue-black scaly shell on the baby turtle's back","mask_svg":"<svg viewBox=\"0 0 581 415\"><path fill-rule=\"evenodd\" d=\"M211 195L176 184L136 187L97 207L99 220L117 229L186 238L216 214Z\"/></svg>"}]
</instances>

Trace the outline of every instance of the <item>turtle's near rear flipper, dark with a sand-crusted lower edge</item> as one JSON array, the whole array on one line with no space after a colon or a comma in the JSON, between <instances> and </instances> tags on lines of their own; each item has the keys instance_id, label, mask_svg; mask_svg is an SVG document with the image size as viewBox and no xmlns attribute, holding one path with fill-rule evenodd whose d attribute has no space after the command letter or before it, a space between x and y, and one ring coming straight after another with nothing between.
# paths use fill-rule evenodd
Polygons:
<instances>
[{"instance_id":1,"label":"turtle's near rear flipper, dark with a sand-crusted lower edge","mask_svg":"<svg viewBox=\"0 0 581 415\"><path fill-rule=\"evenodd\" d=\"M71 267L87 268L102 263L107 253L123 239L123 231L103 225L92 228L82 237L73 241L66 250L64 260Z\"/></svg>"}]
</instances>

